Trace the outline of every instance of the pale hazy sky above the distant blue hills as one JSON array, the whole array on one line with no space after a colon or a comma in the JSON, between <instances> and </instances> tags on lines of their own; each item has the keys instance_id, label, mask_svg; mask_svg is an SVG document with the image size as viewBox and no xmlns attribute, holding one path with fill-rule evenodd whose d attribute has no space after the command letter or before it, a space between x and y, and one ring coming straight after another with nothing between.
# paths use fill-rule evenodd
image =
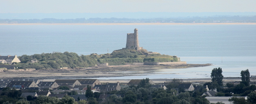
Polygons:
<instances>
[{"instance_id":1,"label":"pale hazy sky above the distant blue hills","mask_svg":"<svg viewBox=\"0 0 256 104\"><path fill-rule=\"evenodd\" d=\"M256 12L256 0L1 0L0 13Z\"/></svg>"}]
</instances>

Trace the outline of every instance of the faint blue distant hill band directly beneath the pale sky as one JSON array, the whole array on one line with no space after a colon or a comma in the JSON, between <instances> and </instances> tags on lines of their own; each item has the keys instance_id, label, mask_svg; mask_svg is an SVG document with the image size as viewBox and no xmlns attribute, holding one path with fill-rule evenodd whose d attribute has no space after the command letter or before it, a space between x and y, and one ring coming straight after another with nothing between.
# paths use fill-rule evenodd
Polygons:
<instances>
[{"instance_id":1,"label":"faint blue distant hill band directly beneath the pale sky","mask_svg":"<svg viewBox=\"0 0 256 104\"><path fill-rule=\"evenodd\" d=\"M130 19L152 19L152 18L192 18L192 17L232 17L232 16L254 16L256 12L122 12L122 13L0 13L0 19L77 19L77 18L130 18Z\"/></svg>"}]
</instances>

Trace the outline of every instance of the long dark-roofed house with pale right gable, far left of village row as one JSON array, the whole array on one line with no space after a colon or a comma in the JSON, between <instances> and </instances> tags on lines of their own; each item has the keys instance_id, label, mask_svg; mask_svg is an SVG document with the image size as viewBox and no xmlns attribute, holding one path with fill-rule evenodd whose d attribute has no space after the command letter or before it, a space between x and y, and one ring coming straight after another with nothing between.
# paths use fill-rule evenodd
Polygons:
<instances>
[{"instance_id":1,"label":"long dark-roofed house with pale right gable, far left of village row","mask_svg":"<svg viewBox=\"0 0 256 104\"><path fill-rule=\"evenodd\" d=\"M38 87L34 81L11 81L7 87L9 88L30 88Z\"/></svg>"}]
</instances>

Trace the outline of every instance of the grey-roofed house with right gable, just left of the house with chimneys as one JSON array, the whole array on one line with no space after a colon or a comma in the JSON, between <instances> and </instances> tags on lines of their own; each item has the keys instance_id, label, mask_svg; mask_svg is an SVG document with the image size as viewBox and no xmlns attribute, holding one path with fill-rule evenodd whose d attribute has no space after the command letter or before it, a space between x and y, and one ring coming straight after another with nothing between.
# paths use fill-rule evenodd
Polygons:
<instances>
[{"instance_id":1,"label":"grey-roofed house with right gable, just left of the house with chimneys","mask_svg":"<svg viewBox=\"0 0 256 104\"><path fill-rule=\"evenodd\" d=\"M95 85L101 85L101 82L98 81L97 79L77 79L81 85L89 85L91 87L94 87Z\"/></svg>"}]
</instances>

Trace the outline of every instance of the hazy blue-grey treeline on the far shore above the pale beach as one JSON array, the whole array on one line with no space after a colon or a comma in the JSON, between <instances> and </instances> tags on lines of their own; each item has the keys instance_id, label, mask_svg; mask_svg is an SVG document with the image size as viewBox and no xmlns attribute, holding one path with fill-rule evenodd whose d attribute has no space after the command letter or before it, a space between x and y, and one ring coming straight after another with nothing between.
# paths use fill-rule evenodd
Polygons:
<instances>
[{"instance_id":1,"label":"hazy blue-grey treeline on the far shore above the pale beach","mask_svg":"<svg viewBox=\"0 0 256 104\"><path fill-rule=\"evenodd\" d=\"M180 17L180 18L77 18L77 19L2 19L0 23L256 23L256 16L219 16L219 17Z\"/></svg>"}]
</instances>

